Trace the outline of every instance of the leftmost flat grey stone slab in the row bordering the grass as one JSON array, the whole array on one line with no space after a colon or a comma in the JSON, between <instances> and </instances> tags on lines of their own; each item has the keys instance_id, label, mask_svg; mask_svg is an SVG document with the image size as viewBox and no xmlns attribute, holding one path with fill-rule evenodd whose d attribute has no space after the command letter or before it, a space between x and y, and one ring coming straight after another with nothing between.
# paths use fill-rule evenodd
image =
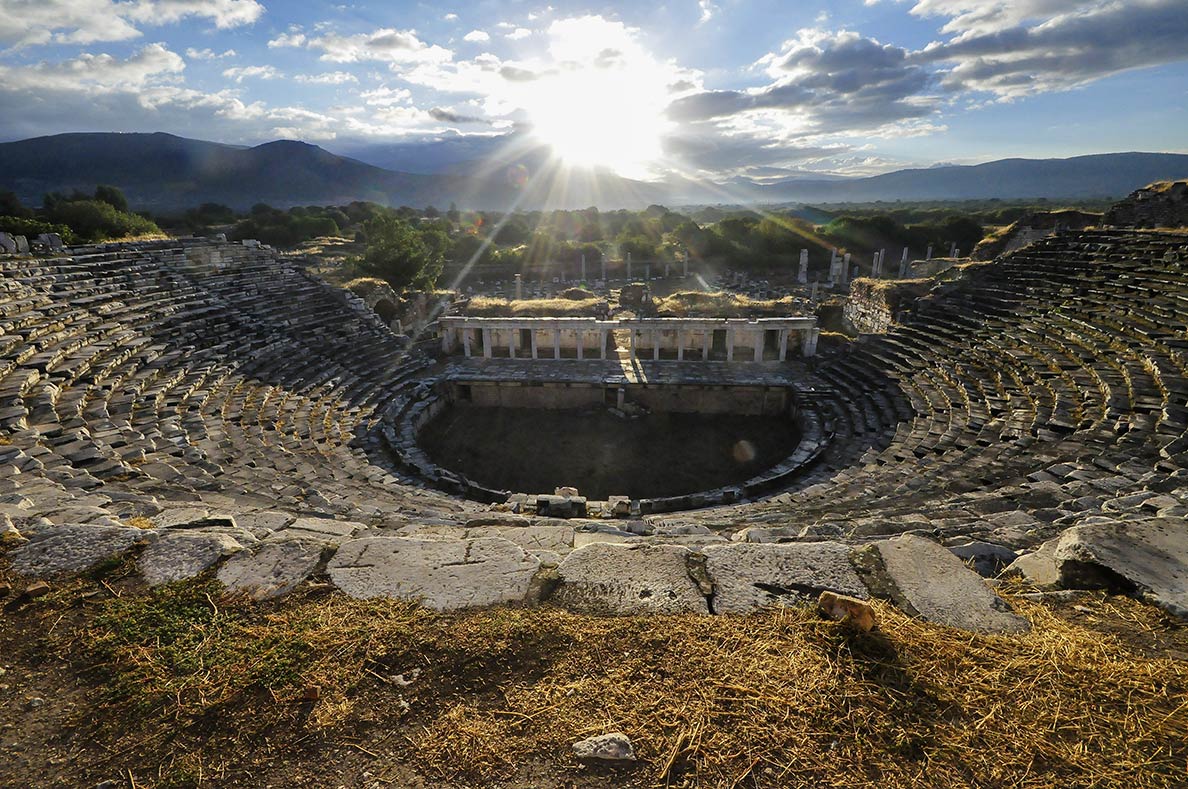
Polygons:
<instances>
[{"instance_id":1,"label":"leftmost flat grey stone slab in the row bordering the grass","mask_svg":"<svg viewBox=\"0 0 1188 789\"><path fill-rule=\"evenodd\" d=\"M40 531L10 551L12 568L34 577L81 573L128 553L156 535L129 526L67 524Z\"/></svg>"}]
</instances>

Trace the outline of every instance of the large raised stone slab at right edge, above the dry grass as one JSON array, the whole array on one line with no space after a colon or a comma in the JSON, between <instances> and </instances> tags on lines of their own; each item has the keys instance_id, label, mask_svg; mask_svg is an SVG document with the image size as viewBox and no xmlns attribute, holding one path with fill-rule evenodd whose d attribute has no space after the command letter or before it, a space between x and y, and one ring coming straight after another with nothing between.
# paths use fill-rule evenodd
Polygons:
<instances>
[{"instance_id":1,"label":"large raised stone slab at right edge, above the dry grass","mask_svg":"<svg viewBox=\"0 0 1188 789\"><path fill-rule=\"evenodd\" d=\"M1060 536L1053 561L1066 588L1132 587L1140 599L1188 617L1188 526L1181 518L1073 526Z\"/></svg>"}]
</instances>

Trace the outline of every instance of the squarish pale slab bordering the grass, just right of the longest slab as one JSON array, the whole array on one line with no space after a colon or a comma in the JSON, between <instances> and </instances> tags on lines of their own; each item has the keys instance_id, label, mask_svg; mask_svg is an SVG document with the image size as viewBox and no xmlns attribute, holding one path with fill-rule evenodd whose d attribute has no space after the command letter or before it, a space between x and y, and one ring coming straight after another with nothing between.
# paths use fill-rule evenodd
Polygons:
<instances>
[{"instance_id":1,"label":"squarish pale slab bordering the grass, just right of the longest slab","mask_svg":"<svg viewBox=\"0 0 1188 789\"><path fill-rule=\"evenodd\" d=\"M557 567L552 599L586 613L709 613L681 545L592 543Z\"/></svg>"}]
</instances>

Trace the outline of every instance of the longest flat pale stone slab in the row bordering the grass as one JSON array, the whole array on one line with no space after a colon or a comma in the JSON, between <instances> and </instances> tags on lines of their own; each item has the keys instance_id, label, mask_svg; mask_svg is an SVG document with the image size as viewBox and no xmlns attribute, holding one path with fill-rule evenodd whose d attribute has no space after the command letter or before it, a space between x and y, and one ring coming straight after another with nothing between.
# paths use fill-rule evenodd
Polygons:
<instances>
[{"instance_id":1,"label":"longest flat pale stone slab in the row bordering the grass","mask_svg":"<svg viewBox=\"0 0 1188 789\"><path fill-rule=\"evenodd\" d=\"M539 568L541 560L500 537L364 537L343 543L327 573L353 598L419 600L453 611L524 601Z\"/></svg>"}]
</instances>

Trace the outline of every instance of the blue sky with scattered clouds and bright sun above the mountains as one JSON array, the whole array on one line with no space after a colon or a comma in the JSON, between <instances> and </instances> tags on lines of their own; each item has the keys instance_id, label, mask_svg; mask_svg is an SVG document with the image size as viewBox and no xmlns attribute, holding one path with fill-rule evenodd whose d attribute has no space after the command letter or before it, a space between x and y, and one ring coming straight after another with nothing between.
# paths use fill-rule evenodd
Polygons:
<instances>
[{"instance_id":1,"label":"blue sky with scattered clouds and bright sun above the mountains","mask_svg":"<svg viewBox=\"0 0 1188 789\"><path fill-rule=\"evenodd\" d=\"M1188 0L0 0L0 139L541 140L640 178L1188 152Z\"/></svg>"}]
</instances>

